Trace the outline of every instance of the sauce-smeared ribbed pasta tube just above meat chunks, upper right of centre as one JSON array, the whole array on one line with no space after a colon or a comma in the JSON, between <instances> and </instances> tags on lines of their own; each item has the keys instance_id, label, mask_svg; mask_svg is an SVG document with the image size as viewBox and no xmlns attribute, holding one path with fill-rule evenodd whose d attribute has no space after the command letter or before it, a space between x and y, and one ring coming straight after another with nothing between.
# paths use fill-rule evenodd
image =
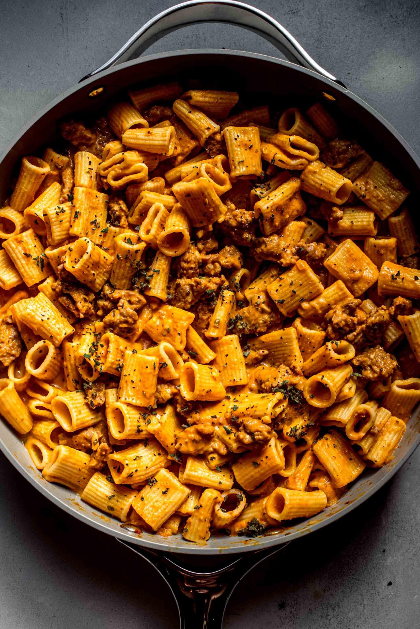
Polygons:
<instances>
[{"instance_id":1,"label":"sauce-smeared ribbed pasta tube just above meat chunks, upper right of centre","mask_svg":"<svg viewBox=\"0 0 420 629\"><path fill-rule=\"evenodd\" d=\"M263 216L262 225L266 236L305 213L306 205L302 201L299 189L299 179L292 177L254 205L255 216L257 218L259 214Z\"/></svg>"}]
</instances>

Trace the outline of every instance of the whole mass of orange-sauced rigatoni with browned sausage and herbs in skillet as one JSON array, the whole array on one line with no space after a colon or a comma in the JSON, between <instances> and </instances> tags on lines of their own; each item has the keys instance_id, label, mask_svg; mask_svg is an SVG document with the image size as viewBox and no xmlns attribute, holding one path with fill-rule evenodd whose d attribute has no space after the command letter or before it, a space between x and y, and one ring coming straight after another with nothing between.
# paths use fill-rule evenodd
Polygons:
<instances>
[{"instance_id":1,"label":"whole mass of orange-sauced rigatoni with browned sausage and herbs in skillet","mask_svg":"<svg viewBox=\"0 0 420 629\"><path fill-rule=\"evenodd\" d=\"M45 481L197 544L328 509L420 402L404 182L321 103L240 103L135 87L0 209L0 414Z\"/></svg>"}]
</instances>

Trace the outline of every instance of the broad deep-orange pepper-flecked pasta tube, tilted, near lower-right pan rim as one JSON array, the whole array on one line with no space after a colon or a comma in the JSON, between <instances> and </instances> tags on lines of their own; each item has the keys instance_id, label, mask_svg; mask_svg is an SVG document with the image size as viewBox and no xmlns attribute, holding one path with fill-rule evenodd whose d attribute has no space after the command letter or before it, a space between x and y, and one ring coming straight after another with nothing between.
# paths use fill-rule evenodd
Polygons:
<instances>
[{"instance_id":1,"label":"broad deep-orange pepper-flecked pasta tube, tilted, near lower-right pan rim","mask_svg":"<svg viewBox=\"0 0 420 629\"><path fill-rule=\"evenodd\" d=\"M348 485L365 469L365 464L349 442L334 429L317 440L312 449L331 476L334 487Z\"/></svg>"}]
</instances>

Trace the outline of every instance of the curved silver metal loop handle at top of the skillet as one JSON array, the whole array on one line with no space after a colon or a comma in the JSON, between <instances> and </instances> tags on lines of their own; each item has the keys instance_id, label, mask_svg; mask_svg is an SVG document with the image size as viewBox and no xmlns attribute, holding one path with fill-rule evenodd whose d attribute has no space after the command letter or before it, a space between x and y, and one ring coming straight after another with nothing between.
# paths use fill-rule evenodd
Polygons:
<instances>
[{"instance_id":1,"label":"curved silver metal loop handle at top of the skillet","mask_svg":"<svg viewBox=\"0 0 420 629\"><path fill-rule=\"evenodd\" d=\"M127 61L132 55L141 55L152 43L167 33L176 31L183 26L202 22L228 23L254 31L278 48L289 61L314 70L325 79L346 87L339 79L318 65L300 43L275 19L263 11L249 6L249 4L236 2L236 0L190 0L162 11L154 18L149 19L105 64L86 74L81 81L89 79L115 64Z\"/></svg>"}]
</instances>

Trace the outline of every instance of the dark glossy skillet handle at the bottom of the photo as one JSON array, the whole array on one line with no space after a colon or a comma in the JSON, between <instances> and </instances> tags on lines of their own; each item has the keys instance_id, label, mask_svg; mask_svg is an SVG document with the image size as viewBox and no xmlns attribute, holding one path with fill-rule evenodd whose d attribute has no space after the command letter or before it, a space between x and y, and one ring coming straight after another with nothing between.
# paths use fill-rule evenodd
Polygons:
<instances>
[{"instance_id":1,"label":"dark glossy skillet handle at the bottom of the photo","mask_svg":"<svg viewBox=\"0 0 420 629\"><path fill-rule=\"evenodd\" d=\"M164 578L178 608L180 629L222 629L225 608L237 584L261 561L288 545L287 542L268 550L254 550L233 559L212 555L180 558L116 540L140 555Z\"/></svg>"}]
</instances>

